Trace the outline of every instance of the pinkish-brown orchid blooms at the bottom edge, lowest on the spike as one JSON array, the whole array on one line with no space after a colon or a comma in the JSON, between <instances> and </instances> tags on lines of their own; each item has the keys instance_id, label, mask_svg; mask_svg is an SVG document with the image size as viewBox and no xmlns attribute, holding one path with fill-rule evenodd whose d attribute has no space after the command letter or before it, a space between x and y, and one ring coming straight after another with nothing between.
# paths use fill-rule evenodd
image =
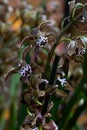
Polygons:
<instances>
[{"instance_id":1,"label":"pinkish-brown orchid blooms at the bottom edge, lowest on the spike","mask_svg":"<svg viewBox=\"0 0 87 130\"><path fill-rule=\"evenodd\" d=\"M51 114L49 113L51 108L53 106L53 103L51 102L48 105L48 109L47 112L44 114L44 116L42 116L40 110L37 111L36 115L34 115L34 117L29 117L26 116L25 121L23 123L23 126L21 127L20 130L22 130L23 128L27 128L30 130L39 130L39 128L44 128L44 130L58 130L58 126L55 124L55 122L53 120L47 122L46 119L51 117ZM39 124L39 128L36 126L36 124Z\"/></svg>"}]
</instances>

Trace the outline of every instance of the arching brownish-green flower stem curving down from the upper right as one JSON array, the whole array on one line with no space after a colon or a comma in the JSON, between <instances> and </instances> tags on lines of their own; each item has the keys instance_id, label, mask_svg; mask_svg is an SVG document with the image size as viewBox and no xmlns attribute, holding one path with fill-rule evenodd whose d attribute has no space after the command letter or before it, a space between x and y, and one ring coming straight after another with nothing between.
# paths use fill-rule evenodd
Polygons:
<instances>
[{"instance_id":1,"label":"arching brownish-green flower stem curving down from the upper right","mask_svg":"<svg viewBox=\"0 0 87 130\"><path fill-rule=\"evenodd\" d=\"M67 24L65 26L65 28L63 28L56 40L56 42L53 44L49 54L48 54L48 59L47 59L47 63L46 63L46 67L45 67L45 71L44 71L44 76L46 78L48 78L48 72L49 72L49 69L50 69L50 62L51 62L51 59L52 59L52 56L54 54L54 51L55 51L55 48L57 47L57 45L60 43L60 39L62 38L62 36L64 35L64 33L70 28L70 26L75 23L78 19L80 19L82 14L76 16L75 18L73 18L72 21L69 22L69 24Z\"/></svg>"}]
</instances>

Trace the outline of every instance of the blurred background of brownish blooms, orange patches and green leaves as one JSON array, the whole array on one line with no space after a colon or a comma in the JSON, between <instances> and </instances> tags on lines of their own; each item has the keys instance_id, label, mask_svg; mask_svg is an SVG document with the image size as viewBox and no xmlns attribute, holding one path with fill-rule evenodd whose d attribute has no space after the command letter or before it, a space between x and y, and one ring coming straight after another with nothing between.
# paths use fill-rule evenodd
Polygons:
<instances>
[{"instance_id":1,"label":"blurred background of brownish blooms, orange patches and green leaves","mask_svg":"<svg viewBox=\"0 0 87 130\"><path fill-rule=\"evenodd\" d=\"M19 104L22 91L19 76L13 76L7 83L4 82L7 72L13 68L15 60L20 57L21 40L29 35L32 28L46 21L53 22L52 30L58 35L61 31L63 18L70 13L68 2L70 0L0 0L0 130L14 130L15 124L18 130L26 115L25 106ZM79 2L86 3L86 0L79 0ZM81 34L87 36L87 26L85 28L83 25L81 29ZM74 29L71 28L72 35L76 35L77 31L79 31L79 26ZM65 49L66 46L62 43L58 46L56 52L61 55ZM79 82L77 81L78 78L82 78L82 67L75 63L72 65L72 62L70 65L74 91ZM79 69L77 70L77 68ZM75 69L76 73L74 74ZM84 101L87 101L86 92L87 90L85 94L80 93L73 105L69 118L73 117L73 113L77 113L79 116L78 118L74 117L76 120L75 126L72 126L69 130L87 130L87 103L84 105ZM67 104L68 98L61 102ZM65 104L62 105L64 107ZM59 113L62 105L59 107ZM22 115L21 118L20 115ZM61 114L59 114L59 117L61 117ZM71 124L74 118L70 120Z\"/></svg>"}]
</instances>

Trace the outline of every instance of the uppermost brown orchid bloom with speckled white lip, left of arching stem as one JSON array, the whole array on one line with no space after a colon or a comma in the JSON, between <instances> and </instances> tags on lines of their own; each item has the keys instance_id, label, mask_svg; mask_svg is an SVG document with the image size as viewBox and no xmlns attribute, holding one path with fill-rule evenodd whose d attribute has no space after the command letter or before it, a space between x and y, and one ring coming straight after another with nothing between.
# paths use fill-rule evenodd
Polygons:
<instances>
[{"instance_id":1,"label":"uppermost brown orchid bloom with speckled white lip, left of arching stem","mask_svg":"<svg viewBox=\"0 0 87 130\"><path fill-rule=\"evenodd\" d=\"M46 28L48 28L48 25L52 26L51 22L46 21L40 24L39 27L32 29L30 35L22 40L21 46L23 43L25 43L26 40L28 40L29 43L31 42L31 40L33 40L33 46L38 47L44 47L46 44L51 44L52 42L55 42L55 33L47 32L45 30Z\"/></svg>"}]
</instances>

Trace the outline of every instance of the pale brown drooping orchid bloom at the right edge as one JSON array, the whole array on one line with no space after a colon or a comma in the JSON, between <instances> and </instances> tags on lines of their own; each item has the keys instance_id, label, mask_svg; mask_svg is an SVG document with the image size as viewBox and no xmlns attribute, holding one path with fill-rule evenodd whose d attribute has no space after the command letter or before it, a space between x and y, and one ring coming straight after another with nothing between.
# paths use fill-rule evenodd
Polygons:
<instances>
[{"instance_id":1,"label":"pale brown drooping orchid bloom at the right edge","mask_svg":"<svg viewBox=\"0 0 87 130\"><path fill-rule=\"evenodd\" d=\"M86 43L87 38L84 36L73 38L67 47L68 55L77 62L83 62L83 54L86 52Z\"/></svg>"}]
</instances>

